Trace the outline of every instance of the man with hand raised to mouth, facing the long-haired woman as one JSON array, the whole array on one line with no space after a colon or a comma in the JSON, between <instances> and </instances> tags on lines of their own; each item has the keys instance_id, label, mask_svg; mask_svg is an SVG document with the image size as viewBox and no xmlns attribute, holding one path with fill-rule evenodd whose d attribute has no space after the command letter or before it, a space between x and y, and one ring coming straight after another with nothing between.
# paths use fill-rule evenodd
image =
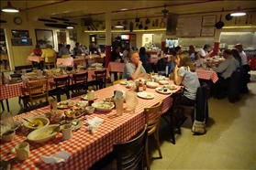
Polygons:
<instances>
[{"instance_id":1,"label":"man with hand raised to mouth, facing the long-haired woman","mask_svg":"<svg viewBox=\"0 0 256 170\"><path fill-rule=\"evenodd\" d=\"M137 51L130 51L128 57L130 61L125 66L122 79L137 80L144 78L146 70L139 60L139 53Z\"/></svg>"}]
</instances>

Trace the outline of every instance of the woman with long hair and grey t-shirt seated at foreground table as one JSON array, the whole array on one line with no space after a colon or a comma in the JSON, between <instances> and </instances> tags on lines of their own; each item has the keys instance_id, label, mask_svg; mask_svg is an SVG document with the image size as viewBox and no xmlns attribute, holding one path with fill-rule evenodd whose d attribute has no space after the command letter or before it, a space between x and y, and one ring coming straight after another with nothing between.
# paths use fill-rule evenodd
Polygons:
<instances>
[{"instance_id":1,"label":"woman with long hair and grey t-shirt seated at foreground table","mask_svg":"<svg viewBox=\"0 0 256 170\"><path fill-rule=\"evenodd\" d=\"M181 52L176 57L176 66L174 69L174 82L177 85L184 85L184 95L180 104L186 106L195 106L196 90L200 87L200 83L195 72L195 65L189 58L188 53ZM180 116L181 124L187 119L184 113ZM191 112L191 118L194 122L195 111Z\"/></svg>"}]
</instances>

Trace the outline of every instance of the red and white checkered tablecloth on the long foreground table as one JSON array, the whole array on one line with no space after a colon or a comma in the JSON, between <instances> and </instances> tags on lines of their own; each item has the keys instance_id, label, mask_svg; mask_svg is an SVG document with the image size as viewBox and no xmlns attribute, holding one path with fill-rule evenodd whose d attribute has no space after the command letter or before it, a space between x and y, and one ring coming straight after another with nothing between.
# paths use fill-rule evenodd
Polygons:
<instances>
[{"instance_id":1,"label":"red and white checkered tablecloth on the long foreground table","mask_svg":"<svg viewBox=\"0 0 256 170\"><path fill-rule=\"evenodd\" d=\"M102 101L105 97L113 95L114 90L125 90L123 85L111 86L103 90L95 91L99 95L96 101ZM99 117L104 119L104 122L98 127L95 133L86 131L87 124L83 121L83 126L73 133L72 139L62 141L61 133L54 140L47 143L30 143L30 156L22 163L15 163L12 169L88 169L95 162L99 161L106 154L113 151L114 143L126 142L143 128L145 117L143 114L144 108L148 108L163 101L163 112L166 112L173 104L173 98L170 94L160 94L154 89L147 89L155 94L152 100L139 99L139 105L135 112L124 112L122 116L111 116L116 114L113 109L110 112L97 112L91 114L88 119ZM173 92L176 90L173 90ZM80 97L71 100L80 101ZM125 107L125 104L124 104ZM16 121L21 122L23 118L38 116L43 112L49 112L49 106L37 111L27 112L14 117ZM1 143L1 161L15 158L16 154L9 154L10 150L17 144L27 140L28 132L17 131L14 140L9 143ZM66 163L55 165L43 163L39 155L52 155L61 150L67 151L71 157Z\"/></svg>"}]
</instances>

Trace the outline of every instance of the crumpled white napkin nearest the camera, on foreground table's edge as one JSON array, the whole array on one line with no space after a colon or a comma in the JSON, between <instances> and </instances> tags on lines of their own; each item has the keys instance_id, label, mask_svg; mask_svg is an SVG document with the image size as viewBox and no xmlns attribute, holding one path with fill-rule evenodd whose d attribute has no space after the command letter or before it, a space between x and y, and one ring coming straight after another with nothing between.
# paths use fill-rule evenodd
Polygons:
<instances>
[{"instance_id":1,"label":"crumpled white napkin nearest the camera, on foreground table's edge","mask_svg":"<svg viewBox=\"0 0 256 170\"><path fill-rule=\"evenodd\" d=\"M53 165L56 163L67 162L70 156L71 154L68 152L61 151L50 156L40 155L40 159L46 164Z\"/></svg>"}]
</instances>

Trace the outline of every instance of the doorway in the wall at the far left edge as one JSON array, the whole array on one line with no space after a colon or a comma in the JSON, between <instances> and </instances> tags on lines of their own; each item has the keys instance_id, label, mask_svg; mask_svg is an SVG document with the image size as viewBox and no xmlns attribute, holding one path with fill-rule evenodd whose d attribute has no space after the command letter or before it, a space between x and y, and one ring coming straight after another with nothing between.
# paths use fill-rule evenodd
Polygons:
<instances>
[{"instance_id":1,"label":"doorway in the wall at the far left edge","mask_svg":"<svg viewBox=\"0 0 256 170\"><path fill-rule=\"evenodd\" d=\"M6 44L6 31L4 28L0 28L0 50L1 50L1 60L0 69L1 72L10 71L10 58L8 55L8 48Z\"/></svg>"}]
</instances>

